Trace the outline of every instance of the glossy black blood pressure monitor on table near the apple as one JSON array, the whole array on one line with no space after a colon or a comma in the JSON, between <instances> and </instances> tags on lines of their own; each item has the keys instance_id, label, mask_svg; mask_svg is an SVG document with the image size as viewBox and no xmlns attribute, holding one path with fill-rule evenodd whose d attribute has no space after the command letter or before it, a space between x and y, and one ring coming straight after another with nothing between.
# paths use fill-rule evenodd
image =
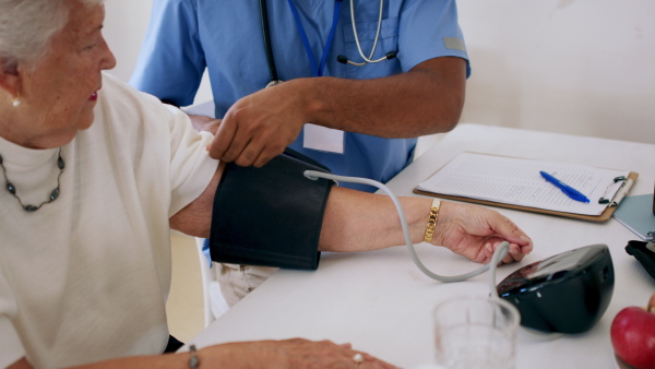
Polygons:
<instances>
[{"instance_id":1,"label":"glossy black blood pressure monitor on table near the apple","mask_svg":"<svg viewBox=\"0 0 655 369\"><path fill-rule=\"evenodd\" d=\"M547 333L582 333L609 306L614 283L609 249L592 245L521 267L497 289L519 309L521 325Z\"/></svg>"}]
</instances>

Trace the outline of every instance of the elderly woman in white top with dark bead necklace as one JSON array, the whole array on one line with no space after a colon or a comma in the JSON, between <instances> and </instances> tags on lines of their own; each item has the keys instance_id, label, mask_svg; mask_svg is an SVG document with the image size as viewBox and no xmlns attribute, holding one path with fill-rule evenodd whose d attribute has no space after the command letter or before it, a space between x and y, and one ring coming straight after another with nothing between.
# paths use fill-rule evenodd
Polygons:
<instances>
[{"instance_id":1,"label":"elderly woman in white top with dark bead necklace","mask_svg":"<svg viewBox=\"0 0 655 369\"><path fill-rule=\"evenodd\" d=\"M198 367L171 342L170 227L207 237L223 165L187 116L103 70L102 0L0 0L0 367ZM430 200L405 198L421 241ZM320 250L403 243L391 202L335 188ZM374 214L374 215L371 215ZM504 262L532 241L497 212L444 203L434 245ZM169 350L170 350L169 346ZM200 367L353 367L349 345L289 340L204 347ZM366 368L389 365L364 355Z\"/></svg>"}]
</instances>

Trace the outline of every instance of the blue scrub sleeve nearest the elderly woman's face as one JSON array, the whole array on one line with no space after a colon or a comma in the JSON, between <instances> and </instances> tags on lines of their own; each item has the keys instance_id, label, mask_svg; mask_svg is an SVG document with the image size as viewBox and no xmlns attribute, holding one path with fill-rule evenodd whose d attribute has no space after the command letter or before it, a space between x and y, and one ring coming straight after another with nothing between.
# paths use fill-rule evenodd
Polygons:
<instances>
[{"instance_id":1,"label":"blue scrub sleeve nearest the elderly woman's face","mask_svg":"<svg viewBox=\"0 0 655 369\"><path fill-rule=\"evenodd\" d=\"M195 0L155 0L130 84L178 106L193 104L205 70Z\"/></svg>"}]
</instances>

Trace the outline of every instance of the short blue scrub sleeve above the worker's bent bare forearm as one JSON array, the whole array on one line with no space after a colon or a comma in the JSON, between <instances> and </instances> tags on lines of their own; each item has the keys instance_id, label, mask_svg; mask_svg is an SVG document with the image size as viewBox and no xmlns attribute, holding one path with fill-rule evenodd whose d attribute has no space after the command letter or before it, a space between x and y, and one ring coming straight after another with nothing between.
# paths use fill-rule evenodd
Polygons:
<instances>
[{"instance_id":1,"label":"short blue scrub sleeve above the worker's bent bare forearm","mask_svg":"<svg viewBox=\"0 0 655 369\"><path fill-rule=\"evenodd\" d=\"M436 57L460 57L466 60L471 74L464 35L457 23L455 0L406 0L398 21L398 59L403 71Z\"/></svg>"}]
</instances>

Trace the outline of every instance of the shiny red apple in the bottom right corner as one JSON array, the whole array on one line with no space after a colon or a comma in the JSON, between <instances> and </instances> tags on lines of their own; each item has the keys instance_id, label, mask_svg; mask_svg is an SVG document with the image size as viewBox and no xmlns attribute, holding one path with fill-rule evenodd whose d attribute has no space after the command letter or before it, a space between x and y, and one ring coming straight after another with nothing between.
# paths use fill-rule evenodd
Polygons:
<instances>
[{"instance_id":1,"label":"shiny red apple in the bottom right corner","mask_svg":"<svg viewBox=\"0 0 655 369\"><path fill-rule=\"evenodd\" d=\"M655 294L646 309L626 308L611 322L611 345L621 360L638 369L655 369Z\"/></svg>"}]
</instances>

